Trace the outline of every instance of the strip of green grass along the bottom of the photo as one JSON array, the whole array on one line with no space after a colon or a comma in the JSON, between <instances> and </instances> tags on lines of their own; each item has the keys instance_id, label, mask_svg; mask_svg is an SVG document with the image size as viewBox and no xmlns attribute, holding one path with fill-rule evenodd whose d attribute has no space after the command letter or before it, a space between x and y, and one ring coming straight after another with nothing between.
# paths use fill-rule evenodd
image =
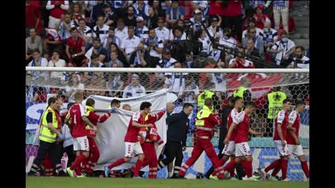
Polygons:
<instances>
[{"instance_id":1,"label":"strip of green grass along the bottom of the photo","mask_svg":"<svg viewBox=\"0 0 335 188\"><path fill-rule=\"evenodd\" d=\"M27 188L104 188L104 187L159 187L159 188L307 188L309 182L233 181L233 180L176 180L176 179L131 179L131 178L68 178L68 177L28 177Z\"/></svg>"}]
</instances>

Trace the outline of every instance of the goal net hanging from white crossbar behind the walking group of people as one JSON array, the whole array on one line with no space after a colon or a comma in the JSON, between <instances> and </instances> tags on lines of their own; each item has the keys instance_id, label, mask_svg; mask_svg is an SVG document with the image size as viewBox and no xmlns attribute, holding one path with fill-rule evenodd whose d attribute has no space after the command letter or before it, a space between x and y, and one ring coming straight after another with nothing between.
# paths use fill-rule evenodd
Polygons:
<instances>
[{"instance_id":1,"label":"goal net hanging from white crossbar behind the walking group of people","mask_svg":"<svg viewBox=\"0 0 335 188\"><path fill-rule=\"evenodd\" d=\"M269 110L267 94L280 90L292 99L295 108L297 100L306 102L306 110L300 114L299 139L309 165L309 72L298 69L151 69L151 68L26 68L26 165L29 171L37 155L36 129L39 125L48 95L64 102L61 114L65 113L68 102L74 102L76 91L84 93L84 98L94 95L105 97L130 98L154 93L162 88L168 89L167 102L173 102L174 112L181 111L183 104L193 104L189 116L190 126L184 152L186 162L195 144L195 115L202 108L201 99L212 93L214 108L222 113L229 105L228 97L240 86L248 88L248 100L258 104L251 116L251 128L264 133L263 138L253 137L249 146L253 152L253 171L265 168L278 158L274 146L274 119L269 113L276 113L281 107ZM122 107L122 104L121 104ZM154 109L151 109L154 110ZM218 152L218 135L211 140ZM34 143L35 142L35 143ZM196 173L205 173L211 162L204 153L200 162L195 163L186 177L195 178ZM64 164L63 164L64 165ZM270 171L271 173L271 171ZM278 173L281 176L281 172ZM290 180L306 180L299 159L293 157L288 162ZM158 171L158 178L165 178L166 171Z\"/></svg>"}]
</instances>

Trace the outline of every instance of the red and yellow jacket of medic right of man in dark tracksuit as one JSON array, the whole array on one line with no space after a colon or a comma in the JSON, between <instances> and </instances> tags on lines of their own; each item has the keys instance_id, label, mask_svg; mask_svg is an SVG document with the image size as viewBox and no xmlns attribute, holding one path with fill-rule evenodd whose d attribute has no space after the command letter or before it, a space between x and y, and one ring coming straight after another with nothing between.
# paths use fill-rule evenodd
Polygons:
<instances>
[{"instance_id":1,"label":"red and yellow jacket of medic right of man in dark tracksuit","mask_svg":"<svg viewBox=\"0 0 335 188\"><path fill-rule=\"evenodd\" d=\"M205 111L205 112L204 112ZM202 139L211 139L211 136L213 136L213 128L215 125L221 125L221 118L218 118L217 115L214 116L213 113L209 113L209 116L206 117L203 114L206 112L208 113L209 108L207 106L204 106L201 111L196 116L196 131L198 137ZM203 117L204 116L204 117ZM199 122L199 125L197 123Z\"/></svg>"}]
</instances>

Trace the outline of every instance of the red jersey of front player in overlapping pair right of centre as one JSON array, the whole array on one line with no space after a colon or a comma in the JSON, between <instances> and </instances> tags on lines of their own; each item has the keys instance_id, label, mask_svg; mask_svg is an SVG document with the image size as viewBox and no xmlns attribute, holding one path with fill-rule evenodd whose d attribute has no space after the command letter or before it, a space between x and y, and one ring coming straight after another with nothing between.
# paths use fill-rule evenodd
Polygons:
<instances>
[{"instance_id":1,"label":"red jersey of front player in overlapping pair right of centre","mask_svg":"<svg viewBox=\"0 0 335 188\"><path fill-rule=\"evenodd\" d=\"M250 118L244 111L241 111L235 118L233 122L237 124L237 133L235 137L235 144L248 142L248 132L249 132L249 123Z\"/></svg>"}]
</instances>

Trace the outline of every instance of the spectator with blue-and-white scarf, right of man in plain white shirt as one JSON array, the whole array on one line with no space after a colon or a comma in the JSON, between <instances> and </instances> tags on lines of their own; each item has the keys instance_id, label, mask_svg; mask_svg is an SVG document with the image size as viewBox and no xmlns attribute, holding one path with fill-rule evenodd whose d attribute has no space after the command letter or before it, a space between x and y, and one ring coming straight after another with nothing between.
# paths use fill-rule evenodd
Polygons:
<instances>
[{"instance_id":1,"label":"spectator with blue-and-white scarf, right of man in plain white shirt","mask_svg":"<svg viewBox=\"0 0 335 188\"><path fill-rule=\"evenodd\" d=\"M149 38L144 42L144 48L146 52L149 52L151 58L151 67L156 68L156 65L162 58L163 52L163 40L156 36L154 28L149 29Z\"/></svg>"}]
</instances>

